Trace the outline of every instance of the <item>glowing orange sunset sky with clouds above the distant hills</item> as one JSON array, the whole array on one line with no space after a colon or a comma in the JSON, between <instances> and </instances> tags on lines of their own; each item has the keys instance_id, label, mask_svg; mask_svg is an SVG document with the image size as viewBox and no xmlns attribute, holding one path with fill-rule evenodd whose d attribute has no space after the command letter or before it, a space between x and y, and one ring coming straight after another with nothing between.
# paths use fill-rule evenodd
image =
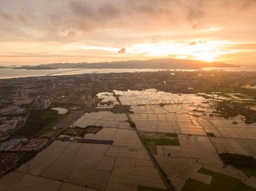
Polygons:
<instances>
[{"instance_id":1,"label":"glowing orange sunset sky with clouds above the distant hills","mask_svg":"<svg viewBox=\"0 0 256 191\"><path fill-rule=\"evenodd\" d=\"M255 64L256 0L0 0L0 65Z\"/></svg>"}]
</instances>

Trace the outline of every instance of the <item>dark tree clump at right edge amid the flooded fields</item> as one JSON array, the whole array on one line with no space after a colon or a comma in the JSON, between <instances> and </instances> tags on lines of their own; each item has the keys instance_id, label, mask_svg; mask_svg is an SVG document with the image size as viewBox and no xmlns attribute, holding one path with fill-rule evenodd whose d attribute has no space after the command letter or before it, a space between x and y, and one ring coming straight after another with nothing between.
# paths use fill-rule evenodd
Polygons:
<instances>
[{"instance_id":1,"label":"dark tree clump at right edge amid the flooded fields","mask_svg":"<svg viewBox=\"0 0 256 191\"><path fill-rule=\"evenodd\" d=\"M221 160L224 164L231 164L237 168L255 168L256 159L252 156L246 156L244 154L233 154L233 153L220 153Z\"/></svg>"}]
</instances>

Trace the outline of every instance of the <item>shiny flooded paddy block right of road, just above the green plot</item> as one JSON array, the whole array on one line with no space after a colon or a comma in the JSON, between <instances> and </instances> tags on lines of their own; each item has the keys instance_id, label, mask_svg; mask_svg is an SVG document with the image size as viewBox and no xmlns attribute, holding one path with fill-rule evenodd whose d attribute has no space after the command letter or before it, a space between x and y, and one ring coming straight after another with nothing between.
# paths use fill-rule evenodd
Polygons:
<instances>
[{"instance_id":1,"label":"shiny flooded paddy block right of road, just above the green plot","mask_svg":"<svg viewBox=\"0 0 256 191\"><path fill-rule=\"evenodd\" d=\"M152 112L153 108L156 108L155 112ZM198 123L200 118L186 114L196 109L195 107L183 107L181 105L166 105L160 107L159 105L154 105L153 108L151 106L132 106L134 114L130 114L130 117L136 124L138 130L206 135L203 127ZM168 112L172 110L172 108L174 108L173 110L175 110L175 112ZM143 111L143 113L140 113L141 111Z\"/></svg>"}]
</instances>

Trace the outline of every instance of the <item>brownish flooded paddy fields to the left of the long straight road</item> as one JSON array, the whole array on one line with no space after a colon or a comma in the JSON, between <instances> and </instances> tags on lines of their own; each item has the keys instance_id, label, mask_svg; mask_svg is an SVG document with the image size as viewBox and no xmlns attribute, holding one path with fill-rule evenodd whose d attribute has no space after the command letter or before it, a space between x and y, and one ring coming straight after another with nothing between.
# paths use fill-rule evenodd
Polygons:
<instances>
[{"instance_id":1,"label":"brownish flooded paddy fields to the left of the long straight road","mask_svg":"<svg viewBox=\"0 0 256 191\"><path fill-rule=\"evenodd\" d=\"M87 120L96 119L103 127L105 121L110 124L96 134L86 134L84 138L112 140L112 145L54 141L30 162L20 166L16 173L61 181L63 190L75 186L111 191L137 190L138 186L166 189L144 146L126 122L125 115L110 112L86 115L90 116ZM86 120L81 117L76 126L84 126L83 121ZM90 122L86 125L95 124ZM119 122L127 123L126 128L115 127ZM18 181L16 183L19 184Z\"/></svg>"}]
</instances>

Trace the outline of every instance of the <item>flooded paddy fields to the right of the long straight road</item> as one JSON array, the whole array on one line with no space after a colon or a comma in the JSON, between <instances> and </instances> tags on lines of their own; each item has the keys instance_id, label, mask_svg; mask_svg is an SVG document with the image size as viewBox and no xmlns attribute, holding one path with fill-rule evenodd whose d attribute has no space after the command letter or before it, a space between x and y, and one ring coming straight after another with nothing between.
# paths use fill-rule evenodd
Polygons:
<instances>
[{"instance_id":1,"label":"flooded paddy fields to the right of the long straight road","mask_svg":"<svg viewBox=\"0 0 256 191\"><path fill-rule=\"evenodd\" d=\"M218 100L194 94L154 89L115 93L122 104L132 105L132 121L175 189L218 190L219 184L227 188L232 182L237 190L255 188L252 170L224 165L219 157L222 152L255 157L255 123L245 124L242 116L219 117L214 114Z\"/></svg>"}]
</instances>

